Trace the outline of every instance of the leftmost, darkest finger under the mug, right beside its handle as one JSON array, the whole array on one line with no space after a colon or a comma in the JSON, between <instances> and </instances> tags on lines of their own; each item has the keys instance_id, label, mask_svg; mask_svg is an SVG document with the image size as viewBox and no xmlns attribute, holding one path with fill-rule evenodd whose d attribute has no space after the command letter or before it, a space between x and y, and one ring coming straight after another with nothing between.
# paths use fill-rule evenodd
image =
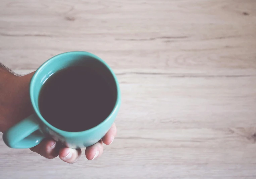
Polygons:
<instances>
[{"instance_id":1,"label":"leftmost, darkest finger under the mug, right beside its handle","mask_svg":"<svg viewBox=\"0 0 256 179\"><path fill-rule=\"evenodd\" d=\"M30 150L48 159L53 159L58 156L56 142L53 139L43 140L37 146L30 148Z\"/></svg>"}]
</instances>

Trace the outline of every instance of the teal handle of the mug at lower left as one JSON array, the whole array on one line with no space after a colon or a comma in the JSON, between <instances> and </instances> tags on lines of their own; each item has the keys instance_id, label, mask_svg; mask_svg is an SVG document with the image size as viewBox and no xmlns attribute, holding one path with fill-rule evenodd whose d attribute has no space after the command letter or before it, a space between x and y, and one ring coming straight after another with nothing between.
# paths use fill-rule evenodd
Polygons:
<instances>
[{"instance_id":1,"label":"teal handle of the mug at lower left","mask_svg":"<svg viewBox=\"0 0 256 179\"><path fill-rule=\"evenodd\" d=\"M31 148L38 145L44 138L39 130L35 114L23 119L3 134L5 144L11 148Z\"/></svg>"}]
</instances>

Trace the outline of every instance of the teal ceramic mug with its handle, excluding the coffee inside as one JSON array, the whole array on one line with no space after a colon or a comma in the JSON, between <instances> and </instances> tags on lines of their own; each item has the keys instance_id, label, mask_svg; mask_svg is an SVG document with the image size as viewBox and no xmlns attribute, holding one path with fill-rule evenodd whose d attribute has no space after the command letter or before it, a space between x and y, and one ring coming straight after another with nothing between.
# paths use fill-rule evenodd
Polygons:
<instances>
[{"instance_id":1,"label":"teal ceramic mug with its handle, excluding the coffee inside","mask_svg":"<svg viewBox=\"0 0 256 179\"><path fill-rule=\"evenodd\" d=\"M116 93L115 106L109 116L97 126L80 132L64 131L52 126L40 114L38 105L40 90L49 76L71 66L97 68L109 81ZM110 129L121 103L119 84L114 72L102 59L83 51L62 53L42 64L31 79L30 99L34 114L20 121L3 134L5 144L11 148L31 148L47 137L51 137L62 145L73 149L91 146L98 142Z\"/></svg>"}]
</instances>

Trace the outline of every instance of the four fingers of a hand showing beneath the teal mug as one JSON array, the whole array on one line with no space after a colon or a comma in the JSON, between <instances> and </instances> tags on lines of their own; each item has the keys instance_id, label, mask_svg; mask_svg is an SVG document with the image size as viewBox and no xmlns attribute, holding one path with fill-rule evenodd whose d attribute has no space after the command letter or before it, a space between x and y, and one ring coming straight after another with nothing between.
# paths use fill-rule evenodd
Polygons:
<instances>
[{"instance_id":1,"label":"four fingers of a hand showing beneath the teal mug","mask_svg":"<svg viewBox=\"0 0 256 179\"><path fill-rule=\"evenodd\" d=\"M88 160L93 160L103 153L103 143L110 145L116 135L115 123L111 126L106 135L96 144L85 149L85 156ZM59 158L67 163L75 163L81 156L81 149L70 149L67 147L59 147L58 143L53 139L45 139L35 147L30 148L31 151L40 154L48 159L53 159L59 155Z\"/></svg>"}]
</instances>

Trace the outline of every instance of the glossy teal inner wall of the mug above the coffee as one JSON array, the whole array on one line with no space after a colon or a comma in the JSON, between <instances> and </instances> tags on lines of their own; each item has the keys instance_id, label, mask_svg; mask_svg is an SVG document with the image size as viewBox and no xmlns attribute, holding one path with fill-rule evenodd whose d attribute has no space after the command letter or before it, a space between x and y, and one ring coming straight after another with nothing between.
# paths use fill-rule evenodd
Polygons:
<instances>
[{"instance_id":1,"label":"glossy teal inner wall of the mug above the coffee","mask_svg":"<svg viewBox=\"0 0 256 179\"><path fill-rule=\"evenodd\" d=\"M39 118L43 119L44 122L46 121L40 114L39 100L38 100L41 87L51 75L60 71L61 69L72 67L72 66L86 66L86 67L92 68L96 72L100 72L102 77L105 80L107 80L108 85L111 88L111 92L113 93L113 96L117 103L117 93L118 93L117 84L118 83L116 81L116 77L114 76L113 71L103 60L101 60L99 57L88 52L67 52L67 53L59 54L57 56L52 57L51 59L46 61L43 65L41 65L31 80L31 85L30 85L31 102L35 112L37 113Z\"/></svg>"}]
</instances>

